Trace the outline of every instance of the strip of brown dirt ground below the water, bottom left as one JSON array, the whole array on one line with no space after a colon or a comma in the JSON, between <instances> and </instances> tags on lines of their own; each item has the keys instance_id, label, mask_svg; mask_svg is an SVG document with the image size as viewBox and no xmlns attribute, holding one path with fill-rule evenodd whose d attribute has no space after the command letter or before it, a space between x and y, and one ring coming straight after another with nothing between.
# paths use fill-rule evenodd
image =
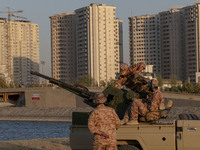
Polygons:
<instances>
[{"instance_id":1,"label":"strip of brown dirt ground below the water, bottom left","mask_svg":"<svg viewBox=\"0 0 200 150\"><path fill-rule=\"evenodd\" d=\"M0 141L0 150L71 150L69 138Z\"/></svg>"}]
</instances>

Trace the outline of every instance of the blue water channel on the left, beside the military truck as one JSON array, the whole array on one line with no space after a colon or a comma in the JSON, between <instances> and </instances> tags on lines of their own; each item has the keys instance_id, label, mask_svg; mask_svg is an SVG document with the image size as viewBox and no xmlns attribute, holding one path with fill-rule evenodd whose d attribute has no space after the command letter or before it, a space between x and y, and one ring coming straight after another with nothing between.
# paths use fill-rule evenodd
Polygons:
<instances>
[{"instance_id":1,"label":"blue water channel on the left, beside the military truck","mask_svg":"<svg viewBox=\"0 0 200 150\"><path fill-rule=\"evenodd\" d=\"M69 137L69 122L0 121L0 141Z\"/></svg>"}]
</instances>

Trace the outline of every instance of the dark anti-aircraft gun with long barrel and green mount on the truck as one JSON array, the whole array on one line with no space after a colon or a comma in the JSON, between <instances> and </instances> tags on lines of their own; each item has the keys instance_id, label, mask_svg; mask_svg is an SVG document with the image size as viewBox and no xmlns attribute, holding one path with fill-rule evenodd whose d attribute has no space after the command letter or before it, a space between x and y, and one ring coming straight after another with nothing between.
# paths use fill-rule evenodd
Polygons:
<instances>
[{"instance_id":1,"label":"dark anti-aircraft gun with long barrel and green mount on the truck","mask_svg":"<svg viewBox=\"0 0 200 150\"><path fill-rule=\"evenodd\" d=\"M46 80L49 80L50 83L53 83L73 94L76 94L84 99L84 103L88 104L89 106L95 107L96 105L93 103L95 96L98 94L96 92L90 92L85 86L79 84L68 84L62 82L60 80L48 77L38 72L30 72L33 75L39 76ZM125 89L117 89L113 86L108 86L103 90L104 95L107 97L106 105L110 106L115 109L116 113L118 114L119 118L122 119L124 113L129 105L129 102L132 97L136 97L136 93L132 90L125 90Z\"/></svg>"}]
</instances>

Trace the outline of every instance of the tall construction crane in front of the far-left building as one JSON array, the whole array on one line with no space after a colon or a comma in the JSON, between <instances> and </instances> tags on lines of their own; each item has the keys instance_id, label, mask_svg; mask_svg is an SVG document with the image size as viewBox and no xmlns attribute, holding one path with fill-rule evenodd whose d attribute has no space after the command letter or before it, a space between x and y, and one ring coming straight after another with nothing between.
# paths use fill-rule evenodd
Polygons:
<instances>
[{"instance_id":1,"label":"tall construction crane in front of the far-left building","mask_svg":"<svg viewBox=\"0 0 200 150\"><path fill-rule=\"evenodd\" d=\"M7 13L8 14L8 25L7 25L7 38L8 38L8 44L7 44L7 48L8 48L8 75L11 79L11 81L13 81L13 74L11 73L11 59L12 59L12 56L11 56L11 46L10 46L10 42L11 42L11 38L10 38L10 21L11 21L11 17L14 16L15 17L15 20L16 20L16 17L19 17L19 16L15 16L13 13L23 13L24 11L23 10L18 10L18 11L10 11L10 7L7 7L8 11L6 12L1 12L0 13Z\"/></svg>"}]
</instances>

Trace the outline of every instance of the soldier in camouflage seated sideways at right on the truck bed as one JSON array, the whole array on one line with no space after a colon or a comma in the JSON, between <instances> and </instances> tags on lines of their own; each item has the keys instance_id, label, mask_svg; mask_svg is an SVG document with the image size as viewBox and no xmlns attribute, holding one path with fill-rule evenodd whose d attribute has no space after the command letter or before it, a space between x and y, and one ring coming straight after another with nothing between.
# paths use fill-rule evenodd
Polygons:
<instances>
[{"instance_id":1,"label":"soldier in camouflage seated sideways at right on the truck bed","mask_svg":"<svg viewBox=\"0 0 200 150\"><path fill-rule=\"evenodd\" d=\"M152 112L158 111L159 106L161 104L164 105L164 99L162 93L158 89L158 81L153 79L151 81L151 90L152 95L147 101L142 99L132 98L131 106L129 109L129 114L125 113L124 119L121 121L121 124L129 124L134 125L138 124L138 116L146 116L147 121L156 120L158 119L159 112ZM128 118L127 118L128 117Z\"/></svg>"}]
</instances>

